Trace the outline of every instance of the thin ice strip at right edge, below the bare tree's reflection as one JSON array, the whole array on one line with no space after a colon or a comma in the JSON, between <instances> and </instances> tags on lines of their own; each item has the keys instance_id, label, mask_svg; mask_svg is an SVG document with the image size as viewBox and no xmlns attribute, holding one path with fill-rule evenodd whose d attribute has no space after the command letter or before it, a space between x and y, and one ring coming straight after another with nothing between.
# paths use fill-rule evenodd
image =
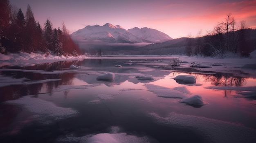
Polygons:
<instances>
[{"instance_id":1,"label":"thin ice strip at right edge, below the bare tree's reflection","mask_svg":"<svg viewBox=\"0 0 256 143\"><path fill-rule=\"evenodd\" d=\"M209 86L208 89L256 91L256 86Z\"/></svg>"}]
</instances>

